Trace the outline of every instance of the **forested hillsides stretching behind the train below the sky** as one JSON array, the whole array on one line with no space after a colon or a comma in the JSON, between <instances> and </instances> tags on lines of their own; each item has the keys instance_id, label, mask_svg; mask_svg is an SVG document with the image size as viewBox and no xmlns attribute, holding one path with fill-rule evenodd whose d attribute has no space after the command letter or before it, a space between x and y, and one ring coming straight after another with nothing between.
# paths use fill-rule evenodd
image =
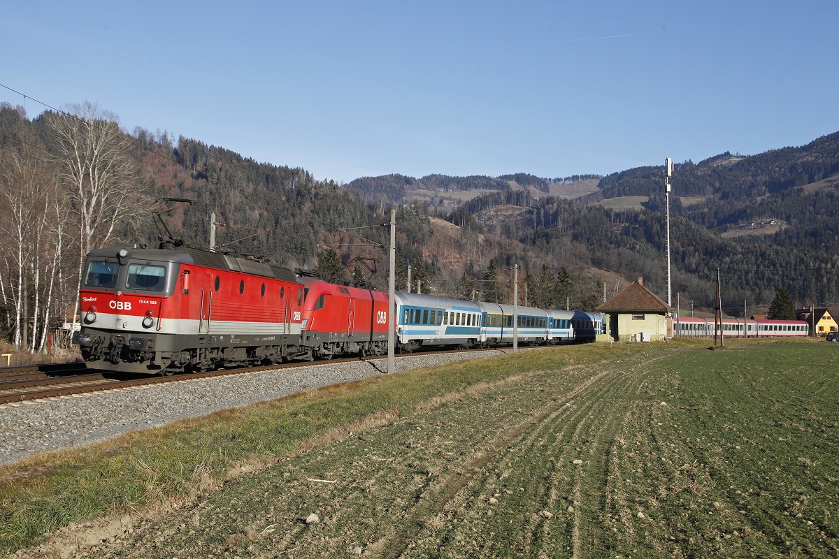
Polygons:
<instances>
[{"instance_id":1,"label":"forested hillsides stretching behind the train below the sky","mask_svg":"<svg viewBox=\"0 0 839 559\"><path fill-rule=\"evenodd\" d=\"M206 247L212 214L220 251L367 287L387 286L383 224L395 206L400 289L410 267L412 289L509 301L518 265L520 303L593 308L639 276L666 292L662 167L602 178L388 175L345 186L200 139L129 133L115 115L83 104L72 115L34 119L0 106L0 171L0 324L4 339L30 350L44 349L73 317L87 250L115 241L156 246L161 237ZM744 302L769 303L781 285L799 304L836 303L837 175L839 133L802 148L677 166L671 248L682 308L713 306L717 268L732 314ZM596 194L550 194L595 179ZM451 207L405 201L441 191ZM592 204L628 195L649 202L642 210ZM778 220L779 232L740 234L763 220Z\"/></svg>"}]
</instances>

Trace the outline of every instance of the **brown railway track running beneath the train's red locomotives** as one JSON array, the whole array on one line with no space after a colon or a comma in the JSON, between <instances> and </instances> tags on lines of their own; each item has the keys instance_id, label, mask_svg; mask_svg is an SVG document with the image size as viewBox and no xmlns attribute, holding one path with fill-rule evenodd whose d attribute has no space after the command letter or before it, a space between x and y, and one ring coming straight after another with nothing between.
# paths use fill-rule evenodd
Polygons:
<instances>
[{"instance_id":1,"label":"brown railway track running beneath the train's red locomotives","mask_svg":"<svg viewBox=\"0 0 839 559\"><path fill-rule=\"evenodd\" d=\"M481 349L461 349L464 351L480 351ZM416 357L420 355L440 354L439 351L415 352L397 354L396 357ZM383 360L386 356L367 357L363 360ZM248 373L266 370L294 369L311 365L326 365L332 363L347 363L359 360L358 357L347 357L323 361L294 361L278 365L258 367L242 367L237 369L208 370L196 373L184 373L172 376L126 375L125 373L91 372L84 368L84 364L61 369L59 365L32 365L30 367L4 367L0 369L0 405L20 401L33 401L56 396L72 396L87 392L117 390L133 386L155 385L165 382L183 382L185 380L206 379L214 376L247 375ZM81 366L76 366L81 365ZM39 367L49 366L48 372ZM12 370L10 370L12 369Z\"/></svg>"}]
</instances>

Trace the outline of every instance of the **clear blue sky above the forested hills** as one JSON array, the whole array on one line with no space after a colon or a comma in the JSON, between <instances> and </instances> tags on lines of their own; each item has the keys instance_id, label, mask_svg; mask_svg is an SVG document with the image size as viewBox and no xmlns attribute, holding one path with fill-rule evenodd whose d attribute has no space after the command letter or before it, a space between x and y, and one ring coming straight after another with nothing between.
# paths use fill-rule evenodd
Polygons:
<instances>
[{"instance_id":1,"label":"clear blue sky above the forested hills","mask_svg":"<svg viewBox=\"0 0 839 559\"><path fill-rule=\"evenodd\" d=\"M607 174L839 131L836 0L45 0L0 14L0 84L317 179ZM24 104L2 87L0 101Z\"/></svg>"}]
</instances>

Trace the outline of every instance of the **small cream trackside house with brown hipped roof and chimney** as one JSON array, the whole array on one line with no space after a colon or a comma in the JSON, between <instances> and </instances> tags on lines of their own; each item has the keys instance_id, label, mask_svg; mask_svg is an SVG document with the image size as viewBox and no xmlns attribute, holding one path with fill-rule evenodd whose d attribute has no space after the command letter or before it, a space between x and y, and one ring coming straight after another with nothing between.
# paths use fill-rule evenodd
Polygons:
<instances>
[{"instance_id":1,"label":"small cream trackside house with brown hipped roof and chimney","mask_svg":"<svg viewBox=\"0 0 839 559\"><path fill-rule=\"evenodd\" d=\"M658 342L673 337L674 308L644 287L644 278L624 287L596 309L607 315L612 339Z\"/></svg>"}]
</instances>

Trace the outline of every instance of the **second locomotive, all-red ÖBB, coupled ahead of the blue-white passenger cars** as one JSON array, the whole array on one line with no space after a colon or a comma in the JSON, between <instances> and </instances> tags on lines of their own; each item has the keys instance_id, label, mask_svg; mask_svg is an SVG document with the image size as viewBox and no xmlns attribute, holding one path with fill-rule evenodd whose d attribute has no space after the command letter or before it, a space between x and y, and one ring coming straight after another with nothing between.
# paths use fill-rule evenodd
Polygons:
<instances>
[{"instance_id":1,"label":"second locomotive, all-red \u00d6BB, coupled ahead of the blue-white passenger cars","mask_svg":"<svg viewBox=\"0 0 839 559\"><path fill-rule=\"evenodd\" d=\"M305 359L383 355L388 351L388 294L300 277L305 285L301 350Z\"/></svg>"}]
</instances>

